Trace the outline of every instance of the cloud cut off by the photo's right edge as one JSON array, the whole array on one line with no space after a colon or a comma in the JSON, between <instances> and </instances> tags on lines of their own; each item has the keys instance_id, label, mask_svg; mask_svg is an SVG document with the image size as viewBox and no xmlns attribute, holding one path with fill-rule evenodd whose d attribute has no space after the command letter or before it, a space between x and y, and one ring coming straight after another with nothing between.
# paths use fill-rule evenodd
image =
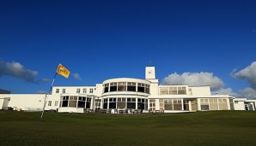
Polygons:
<instances>
[{"instance_id":1,"label":"cloud cut off by the photo's right edge","mask_svg":"<svg viewBox=\"0 0 256 146\"><path fill-rule=\"evenodd\" d=\"M238 73L233 73L233 77L247 80L250 86L256 90L256 61Z\"/></svg>"}]
</instances>

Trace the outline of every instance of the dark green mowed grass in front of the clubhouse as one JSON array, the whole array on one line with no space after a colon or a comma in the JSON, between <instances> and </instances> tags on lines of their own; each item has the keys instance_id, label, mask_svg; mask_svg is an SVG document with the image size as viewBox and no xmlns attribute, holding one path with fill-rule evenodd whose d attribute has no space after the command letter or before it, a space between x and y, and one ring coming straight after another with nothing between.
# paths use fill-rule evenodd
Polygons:
<instances>
[{"instance_id":1,"label":"dark green mowed grass in front of the clubhouse","mask_svg":"<svg viewBox=\"0 0 256 146\"><path fill-rule=\"evenodd\" d=\"M0 145L256 145L256 112L40 114L0 111Z\"/></svg>"}]
</instances>

